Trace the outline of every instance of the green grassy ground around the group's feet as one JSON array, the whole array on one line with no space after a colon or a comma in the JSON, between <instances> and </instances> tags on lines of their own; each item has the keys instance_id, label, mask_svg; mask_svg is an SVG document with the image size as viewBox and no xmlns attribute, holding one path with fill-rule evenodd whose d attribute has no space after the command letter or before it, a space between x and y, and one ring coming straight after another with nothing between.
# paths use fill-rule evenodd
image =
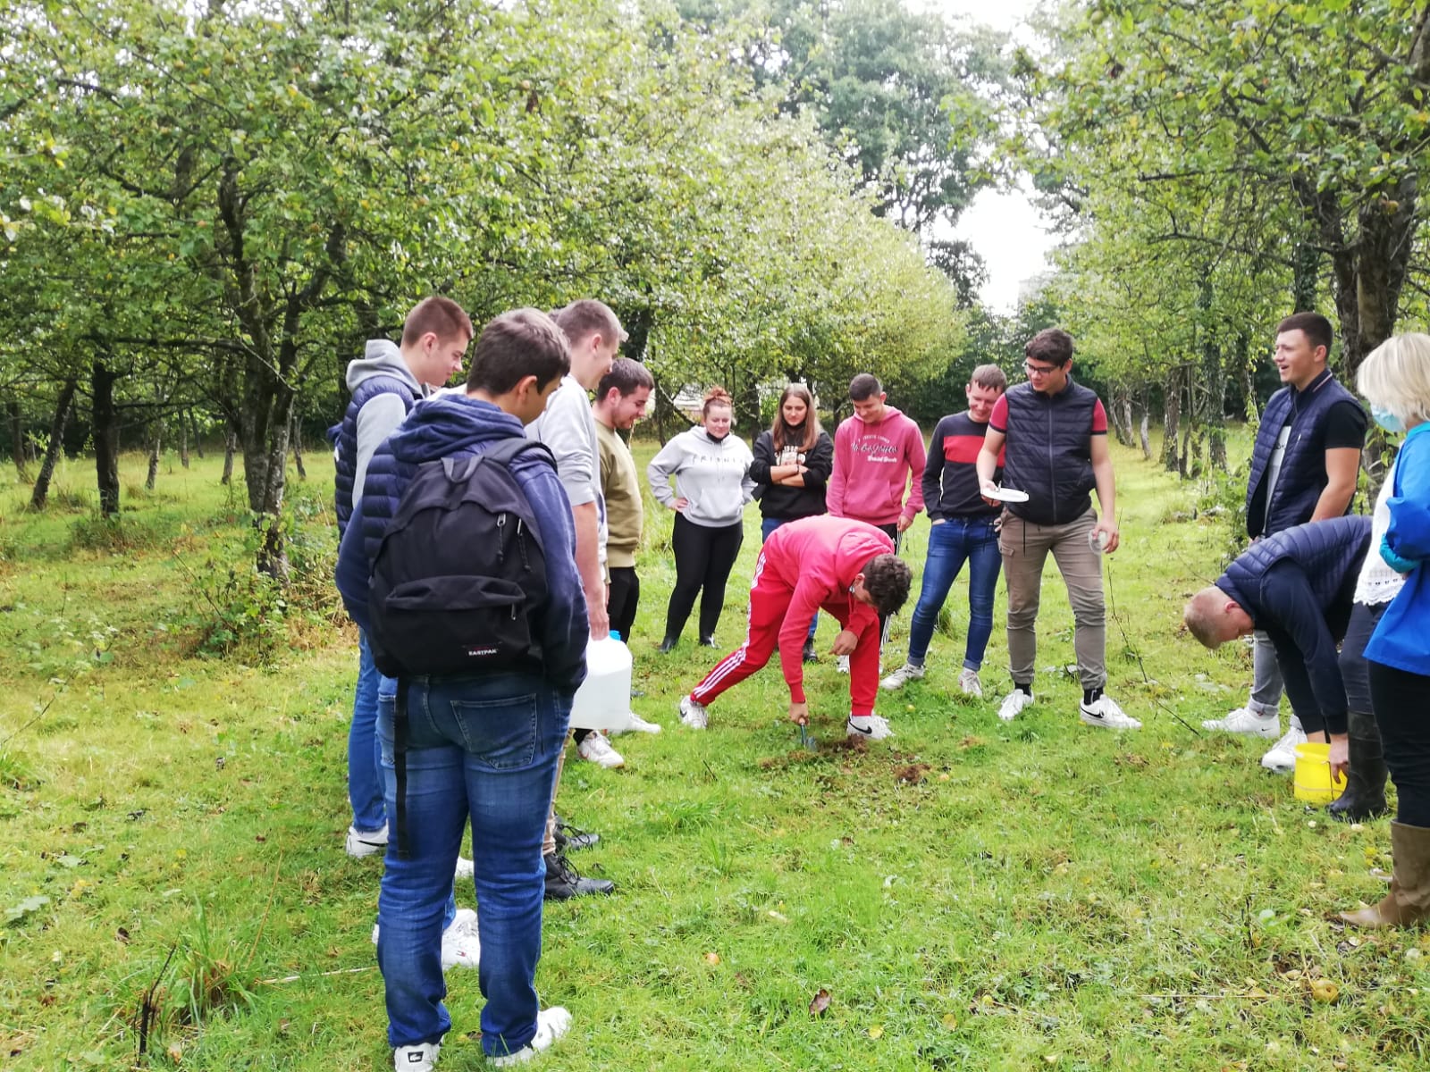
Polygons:
<instances>
[{"instance_id":1,"label":"green grassy ground around the group's feet","mask_svg":"<svg viewBox=\"0 0 1430 1072\"><path fill-rule=\"evenodd\" d=\"M881 696L891 742L838 746L829 659L809 675L818 753L798 749L772 667L714 705L708 732L684 730L675 703L715 653L694 626L655 652L674 567L652 513L635 706L666 730L619 738L623 770L568 765L559 808L602 835L575 859L619 889L546 909L538 985L575 1028L542 1068L1426 1066L1430 941L1327 919L1380 896L1384 820L1328 822L1258 768L1257 743L1200 732L1250 679L1247 649L1178 635L1230 529L1195 510L1194 485L1115 460L1108 690L1145 723L1124 736L1077 720L1051 563L1038 703L1014 723L995 716L1001 626L988 699L957 695L955 587L928 678ZM390 1068L369 942L382 865L342 850L355 640L327 592L330 466L310 467L277 626L214 459L166 462L147 495L126 459L117 527L92 516L89 463L61 470L40 516L0 475L4 1068L144 1063L146 1006L149 1066ZM915 579L927 532L905 546ZM726 647L758 540L752 510ZM1000 590L1000 622L1002 606ZM449 986L440 1066L482 1068L476 973Z\"/></svg>"}]
</instances>

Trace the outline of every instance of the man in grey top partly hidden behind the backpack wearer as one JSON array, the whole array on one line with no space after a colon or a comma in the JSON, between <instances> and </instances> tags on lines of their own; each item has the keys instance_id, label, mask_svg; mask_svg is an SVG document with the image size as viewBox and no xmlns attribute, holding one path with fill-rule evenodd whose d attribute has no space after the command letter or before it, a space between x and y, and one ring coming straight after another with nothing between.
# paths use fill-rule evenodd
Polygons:
<instances>
[{"instance_id":1,"label":"man in grey top partly hidden behind the backpack wearer","mask_svg":"<svg viewBox=\"0 0 1430 1072\"><path fill-rule=\"evenodd\" d=\"M609 306L593 299L572 302L556 310L552 319L566 333L571 346L571 372L551 396L546 412L526 426L526 435L545 443L556 459L556 476L566 489L576 525L576 569L581 572L581 585L586 595L591 635L603 637L611 633L605 576L606 507L601 496L601 446L588 392L595 390L601 377L611 372L626 333ZM556 763L558 789L563 766L565 752ZM552 805L543 849L546 896L565 900L586 893L611 893L615 889L613 882L582 878L566 862L565 852L558 852L556 828L556 812ZM593 839L588 836L583 840L589 843Z\"/></svg>"}]
</instances>

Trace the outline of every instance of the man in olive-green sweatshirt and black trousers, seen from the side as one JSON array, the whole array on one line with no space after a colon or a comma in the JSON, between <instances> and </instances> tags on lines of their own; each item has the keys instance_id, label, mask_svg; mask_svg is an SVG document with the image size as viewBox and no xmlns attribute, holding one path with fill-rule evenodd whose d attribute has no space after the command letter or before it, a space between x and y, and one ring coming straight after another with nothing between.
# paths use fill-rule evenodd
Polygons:
<instances>
[{"instance_id":1,"label":"man in olive-green sweatshirt and black trousers, seen from the side","mask_svg":"<svg viewBox=\"0 0 1430 1072\"><path fill-rule=\"evenodd\" d=\"M631 643L641 577L635 572L635 553L641 549L645 509L641 505L641 477L631 457L631 447L618 432L629 432L645 416L655 380L649 370L629 357L616 357L611 372L596 384L591 416L596 420L596 446L601 452L601 495L606 503L606 572L611 576L606 615L611 632ZM626 729L659 733L661 726L631 713ZM625 765L605 733L578 729L572 733L576 755L603 768Z\"/></svg>"}]
</instances>

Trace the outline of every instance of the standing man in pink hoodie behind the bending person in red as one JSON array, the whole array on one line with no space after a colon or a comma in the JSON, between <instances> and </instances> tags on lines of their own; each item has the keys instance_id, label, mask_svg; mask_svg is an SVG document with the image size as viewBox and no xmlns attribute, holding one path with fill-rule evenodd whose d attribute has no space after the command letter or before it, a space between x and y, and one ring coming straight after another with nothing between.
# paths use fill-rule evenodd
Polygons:
<instances>
[{"instance_id":1,"label":"standing man in pink hoodie behind the bending person in red","mask_svg":"<svg viewBox=\"0 0 1430 1072\"><path fill-rule=\"evenodd\" d=\"M834 433L834 472L825 493L831 517L865 522L894 542L898 553L908 526L924 509L924 433L909 417L887 405L875 376L867 372L849 380L854 416ZM905 490L908 497L905 499ZM888 616L879 619L879 643L888 635ZM848 657L838 659L848 672Z\"/></svg>"}]
</instances>

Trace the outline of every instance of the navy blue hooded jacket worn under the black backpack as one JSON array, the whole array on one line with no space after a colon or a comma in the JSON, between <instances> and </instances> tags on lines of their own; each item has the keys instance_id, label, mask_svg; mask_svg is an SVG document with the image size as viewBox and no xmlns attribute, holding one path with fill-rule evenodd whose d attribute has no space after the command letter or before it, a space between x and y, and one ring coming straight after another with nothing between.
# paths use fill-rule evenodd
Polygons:
<instances>
[{"instance_id":1,"label":"navy blue hooded jacket worn under the black backpack","mask_svg":"<svg viewBox=\"0 0 1430 1072\"><path fill-rule=\"evenodd\" d=\"M525 436L516 417L488 402L453 393L419 403L402 427L378 447L368 465L362 500L353 509L337 552L337 589L347 613L362 629L368 629L373 559L418 466L439 457L480 453L485 445L515 436ZM575 693L586 676L589 622L576 573L571 502L548 462L523 455L513 462L512 473L532 505L546 552L548 597L545 606L532 612L545 676L562 692Z\"/></svg>"}]
</instances>

